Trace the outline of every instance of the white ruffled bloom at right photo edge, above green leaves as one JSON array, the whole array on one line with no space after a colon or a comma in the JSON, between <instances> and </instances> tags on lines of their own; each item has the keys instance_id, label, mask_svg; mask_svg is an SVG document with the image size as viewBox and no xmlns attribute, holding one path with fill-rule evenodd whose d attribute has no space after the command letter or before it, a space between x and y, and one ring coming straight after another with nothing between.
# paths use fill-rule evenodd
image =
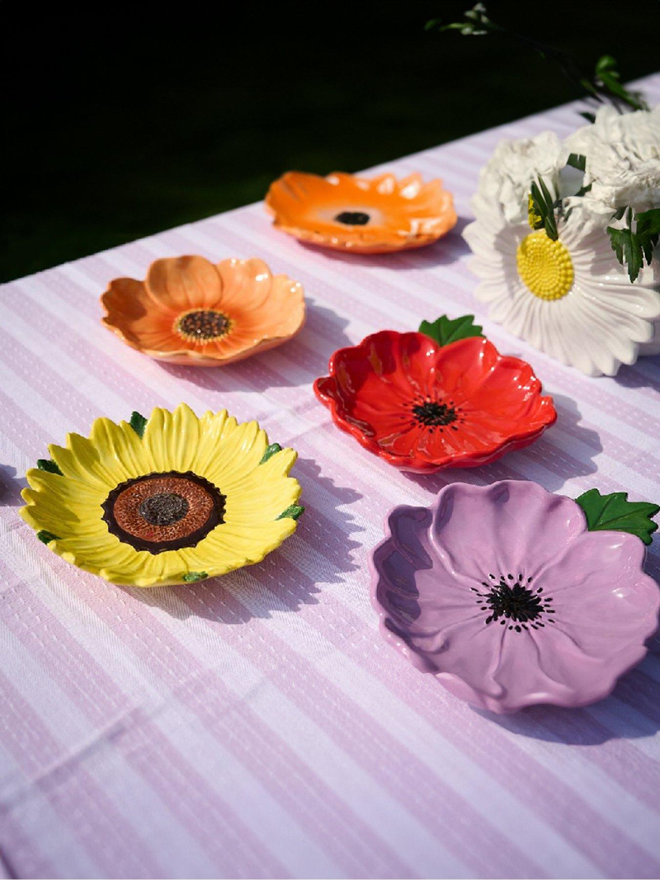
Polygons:
<instances>
[{"instance_id":1,"label":"white ruffled bloom at right photo edge, above green leaves","mask_svg":"<svg viewBox=\"0 0 660 880\"><path fill-rule=\"evenodd\" d=\"M586 157L585 198L603 213L632 205L660 208L660 106L620 114L603 106L593 125L568 138L569 152ZM573 202L571 202L573 203Z\"/></svg>"}]
</instances>

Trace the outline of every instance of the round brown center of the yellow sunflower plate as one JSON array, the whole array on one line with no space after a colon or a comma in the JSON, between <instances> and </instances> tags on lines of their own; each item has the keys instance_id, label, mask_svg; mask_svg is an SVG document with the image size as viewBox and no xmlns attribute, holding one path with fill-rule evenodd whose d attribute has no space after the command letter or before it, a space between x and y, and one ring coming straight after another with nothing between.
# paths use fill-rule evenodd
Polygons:
<instances>
[{"instance_id":1,"label":"round brown center of the yellow sunflower plate","mask_svg":"<svg viewBox=\"0 0 660 880\"><path fill-rule=\"evenodd\" d=\"M187 471L127 480L103 502L108 532L151 554L197 545L224 522L226 498L213 483Z\"/></svg>"}]
</instances>

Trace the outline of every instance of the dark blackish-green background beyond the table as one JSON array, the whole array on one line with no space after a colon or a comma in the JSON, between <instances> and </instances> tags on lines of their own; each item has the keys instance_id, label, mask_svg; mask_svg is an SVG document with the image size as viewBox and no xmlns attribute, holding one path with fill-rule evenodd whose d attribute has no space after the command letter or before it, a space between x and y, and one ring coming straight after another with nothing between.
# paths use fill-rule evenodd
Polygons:
<instances>
[{"instance_id":1,"label":"dark blackish-green background beyond the table","mask_svg":"<svg viewBox=\"0 0 660 880\"><path fill-rule=\"evenodd\" d=\"M509 43L423 30L469 5L0 4L0 280L253 202L290 168L356 171L578 97ZM488 4L626 79L658 67L657 9Z\"/></svg>"}]
</instances>

